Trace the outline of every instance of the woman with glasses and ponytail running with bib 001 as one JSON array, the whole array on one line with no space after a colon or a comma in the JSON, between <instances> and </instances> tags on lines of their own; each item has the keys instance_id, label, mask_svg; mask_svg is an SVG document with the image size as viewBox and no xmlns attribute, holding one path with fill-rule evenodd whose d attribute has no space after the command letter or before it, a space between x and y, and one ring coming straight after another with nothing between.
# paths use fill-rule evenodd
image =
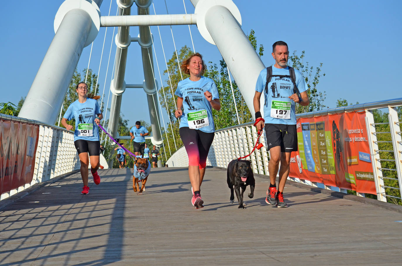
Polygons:
<instances>
[{"instance_id":1,"label":"woman with glasses and ponytail running with bib 001","mask_svg":"<svg viewBox=\"0 0 402 266\"><path fill-rule=\"evenodd\" d=\"M62 119L62 125L67 130L72 129L72 125L68 125L67 121L75 119L74 145L78 151L78 157L81 162L81 177L84 187L81 194L89 193L88 186L88 165L91 162L91 173L94 177L94 183L100 183L98 175L99 168L99 131L98 125L103 118L102 112L98 104L100 96L94 96L88 93L88 85L85 82L77 84L76 91L78 100L68 106L66 113ZM89 153L89 158L88 158Z\"/></svg>"}]
</instances>

